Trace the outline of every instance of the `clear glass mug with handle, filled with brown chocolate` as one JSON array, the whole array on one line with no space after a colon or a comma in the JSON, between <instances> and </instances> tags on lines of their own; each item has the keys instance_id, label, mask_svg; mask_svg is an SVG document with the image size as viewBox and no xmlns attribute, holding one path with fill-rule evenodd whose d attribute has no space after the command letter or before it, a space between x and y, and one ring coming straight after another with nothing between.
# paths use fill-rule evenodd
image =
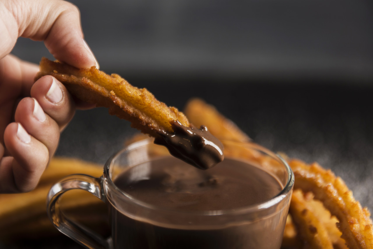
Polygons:
<instances>
[{"instance_id":1,"label":"clear glass mug with handle, filled with brown chocolate","mask_svg":"<svg viewBox=\"0 0 373 249\"><path fill-rule=\"evenodd\" d=\"M273 152L257 144L223 141L225 157L247 161L274 175L282 190L272 199L236 210L188 212L148 205L122 192L114 183L126 169L164 156L152 140L133 143L113 155L103 175L70 175L51 187L48 217L63 234L87 248L280 248L294 174ZM59 199L72 189L86 190L107 203L112 236L108 239L75 224L60 210ZM191 225L192 224L192 225Z\"/></svg>"}]
</instances>

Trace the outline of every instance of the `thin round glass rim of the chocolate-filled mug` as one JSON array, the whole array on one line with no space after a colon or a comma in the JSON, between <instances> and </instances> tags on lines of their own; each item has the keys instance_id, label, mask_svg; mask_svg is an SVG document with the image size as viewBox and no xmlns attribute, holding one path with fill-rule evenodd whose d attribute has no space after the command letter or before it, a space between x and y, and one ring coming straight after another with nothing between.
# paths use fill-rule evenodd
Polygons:
<instances>
[{"instance_id":1,"label":"thin round glass rim of the chocolate-filled mug","mask_svg":"<svg viewBox=\"0 0 373 249\"><path fill-rule=\"evenodd\" d=\"M145 146L149 143L153 143L153 140L151 138L140 140L137 142L134 142L132 144L129 144L128 146L122 148L118 152L114 153L110 158L107 160L105 166L104 166L104 172L103 172L103 178L104 181L110 186L110 191L114 191L115 194L119 194L122 196L125 196L129 201L133 202L136 205L142 206L144 208L149 208L154 211L167 211L167 212L173 212L173 213L180 213L180 214L196 214L196 215L222 215L222 214L238 214L238 213L250 213L254 211L259 211L260 209L267 209L270 208L277 203L280 203L283 199L286 198L287 194L291 191L292 186L294 185L294 173L288 163L279 155L276 153L273 153L272 151L254 143L242 143L242 142L236 142L236 141L229 141L229 140L220 140L222 143L232 143L232 144L239 144L245 147L248 147L250 149L258 150L268 156L271 156L272 158L277 158L279 161L285 166L286 168L286 174L288 177L288 180L286 181L285 186L283 189L272 199L267 200L265 202L256 203L253 205L245 206L242 208L237 209L223 209L223 210L209 210L209 211L185 211L185 210L175 210L172 208L162 208L159 206L155 206L146 202L143 202L141 200L136 199L135 197L131 196L130 194L123 192L120 190L115 183L113 182L112 178L110 177L110 166L112 161L122 153L125 153L126 151L130 151L133 149L137 149L141 146Z\"/></svg>"}]
</instances>

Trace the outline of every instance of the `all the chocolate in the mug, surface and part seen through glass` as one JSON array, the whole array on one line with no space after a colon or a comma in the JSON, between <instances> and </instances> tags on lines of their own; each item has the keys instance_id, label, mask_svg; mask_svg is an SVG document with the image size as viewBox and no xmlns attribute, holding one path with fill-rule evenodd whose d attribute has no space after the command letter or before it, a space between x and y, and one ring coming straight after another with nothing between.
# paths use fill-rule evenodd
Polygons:
<instances>
[{"instance_id":1,"label":"all the chocolate in the mug, surface and part seen through glass","mask_svg":"<svg viewBox=\"0 0 373 249\"><path fill-rule=\"evenodd\" d=\"M132 198L180 215L243 209L270 200L283 188L269 172L229 158L207 171L173 157L160 158L129 168L114 182ZM109 208L114 248L273 249L280 246L286 221L286 212L279 210L265 218L216 227L195 226L198 220L191 220L188 227L175 225L177 217L155 224ZM282 232L270 232L278 229Z\"/></svg>"}]
</instances>

